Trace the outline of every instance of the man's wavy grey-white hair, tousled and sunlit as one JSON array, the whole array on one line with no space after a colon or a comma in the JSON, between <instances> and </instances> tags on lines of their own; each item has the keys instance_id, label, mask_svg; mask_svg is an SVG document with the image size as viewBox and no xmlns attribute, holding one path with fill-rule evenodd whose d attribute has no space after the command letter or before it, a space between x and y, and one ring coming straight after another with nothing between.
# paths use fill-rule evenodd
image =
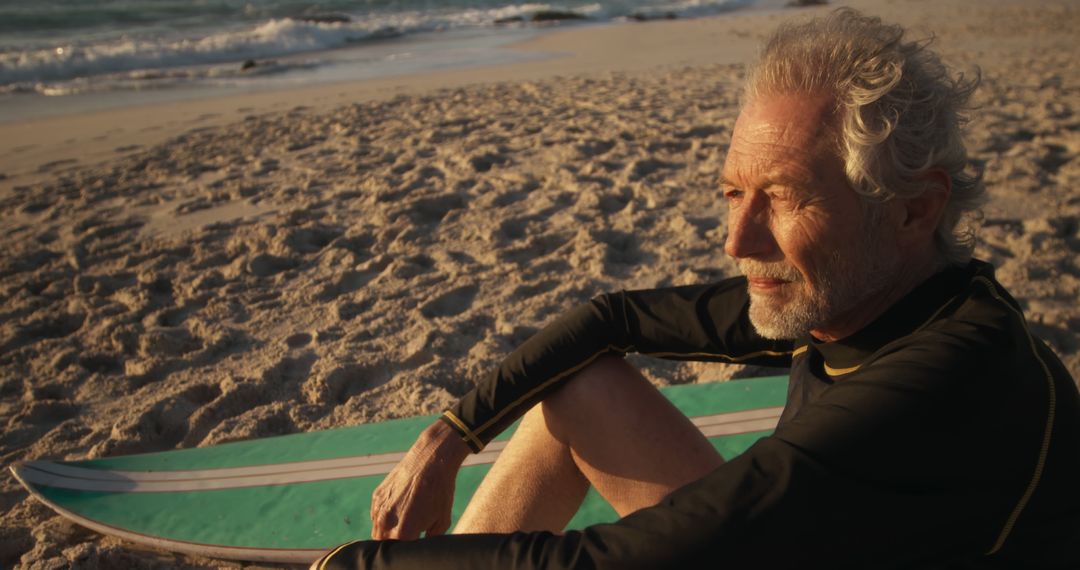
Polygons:
<instances>
[{"instance_id":1,"label":"man's wavy grey-white hair, tousled and sunlit","mask_svg":"<svg viewBox=\"0 0 1080 570\"><path fill-rule=\"evenodd\" d=\"M942 168L953 189L934 243L943 259L971 258L986 191L968 159L960 128L978 73L954 77L928 49L904 41L904 29L852 9L784 25L765 46L746 82L746 101L788 93L828 93L836 99L837 151L848 181L870 202L909 198Z\"/></svg>"}]
</instances>

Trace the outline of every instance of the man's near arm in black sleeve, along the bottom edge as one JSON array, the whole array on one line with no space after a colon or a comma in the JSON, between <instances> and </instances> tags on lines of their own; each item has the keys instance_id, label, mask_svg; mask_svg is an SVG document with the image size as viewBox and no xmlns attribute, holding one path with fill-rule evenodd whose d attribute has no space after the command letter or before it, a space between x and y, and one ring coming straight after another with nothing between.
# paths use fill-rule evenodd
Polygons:
<instances>
[{"instance_id":1,"label":"man's near arm in black sleeve, along the bottom edge","mask_svg":"<svg viewBox=\"0 0 1080 570\"><path fill-rule=\"evenodd\" d=\"M1030 478L1044 410L1017 394L973 394L986 375L969 370L872 366L612 525L363 542L327 568L892 568L978 557ZM1004 418L1012 425L998 428Z\"/></svg>"}]
</instances>

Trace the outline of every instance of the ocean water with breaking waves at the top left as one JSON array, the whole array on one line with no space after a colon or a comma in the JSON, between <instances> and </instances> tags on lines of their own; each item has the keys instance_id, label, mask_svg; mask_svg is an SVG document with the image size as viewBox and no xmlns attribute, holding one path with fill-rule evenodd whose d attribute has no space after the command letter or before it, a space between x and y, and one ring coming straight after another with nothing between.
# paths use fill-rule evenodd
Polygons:
<instances>
[{"instance_id":1,"label":"ocean water with breaking waves at the top left","mask_svg":"<svg viewBox=\"0 0 1080 570\"><path fill-rule=\"evenodd\" d=\"M551 23L700 17L754 0L0 0L0 105L501 63Z\"/></svg>"}]
</instances>

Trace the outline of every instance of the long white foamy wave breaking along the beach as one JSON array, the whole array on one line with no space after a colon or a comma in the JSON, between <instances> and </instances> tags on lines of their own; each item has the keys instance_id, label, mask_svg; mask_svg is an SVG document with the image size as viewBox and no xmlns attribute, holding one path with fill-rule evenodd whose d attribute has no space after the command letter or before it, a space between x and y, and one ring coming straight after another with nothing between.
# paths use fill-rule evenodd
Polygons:
<instances>
[{"instance_id":1,"label":"long white foamy wave breaking along the beach","mask_svg":"<svg viewBox=\"0 0 1080 570\"><path fill-rule=\"evenodd\" d=\"M138 82L160 80L162 71L195 66L220 66L264 60L383 40L417 32L491 27L498 23L525 25L539 13L571 13L594 22L631 16L674 15L696 17L731 10L750 0L672 0L664 3L617 0L578 3L564 8L548 3L495 8L444 8L366 14L314 14L281 17L257 25L237 25L202 36L141 37L66 42L48 49L0 50L0 93L48 93L55 83L89 83L87 78ZM235 71L240 65L228 69ZM224 71L222 71L224 72ZM186 70L176 76L191 78ZM69 87L64 87L69 89ZM77 90L77 87L70 87ZM56 92L55 89L53 89ZM63 90L60 90L63 91Z\"/></svg>"}]
</instances>

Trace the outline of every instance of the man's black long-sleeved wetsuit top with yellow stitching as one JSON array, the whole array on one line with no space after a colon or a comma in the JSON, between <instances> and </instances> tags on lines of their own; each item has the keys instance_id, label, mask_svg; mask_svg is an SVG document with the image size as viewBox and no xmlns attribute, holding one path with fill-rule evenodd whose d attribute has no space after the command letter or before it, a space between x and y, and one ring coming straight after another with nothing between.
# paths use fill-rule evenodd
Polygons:
<instances>
[{"instance_id":1,"label":"man's black long-sleeved wetsuit top with yellow stitching","mask_svg":"<svg viewBox=\"0 0 1080 570\"><path fill-rule=\"evenodd\" d=\"M600 354L791 365L745 453L615 524L364 541L326 568L1080 568L1080 395L988 264L837 342L762 339L747 306L743 279L599 297L445 415L478 450Z\"/></svg>"}]
</instances>

